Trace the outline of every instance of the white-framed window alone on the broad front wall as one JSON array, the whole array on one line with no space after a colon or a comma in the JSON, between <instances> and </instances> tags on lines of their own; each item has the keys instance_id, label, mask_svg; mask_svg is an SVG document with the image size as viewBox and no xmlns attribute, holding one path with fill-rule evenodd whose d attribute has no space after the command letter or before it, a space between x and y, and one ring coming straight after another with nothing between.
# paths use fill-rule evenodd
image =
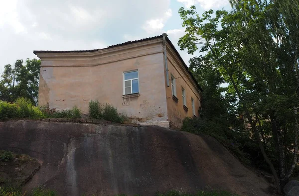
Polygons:
<instances>
[{"instance_id":1,"label":"white-framed window alone on the broad front wall","mask_svg":"<svg viewBox=\"0 0 299 196\"><path fill-rule=\"evenodd\" d=\"M124 95L139 93L138 70L124 72Z\"/></svg>"}]
</instances>

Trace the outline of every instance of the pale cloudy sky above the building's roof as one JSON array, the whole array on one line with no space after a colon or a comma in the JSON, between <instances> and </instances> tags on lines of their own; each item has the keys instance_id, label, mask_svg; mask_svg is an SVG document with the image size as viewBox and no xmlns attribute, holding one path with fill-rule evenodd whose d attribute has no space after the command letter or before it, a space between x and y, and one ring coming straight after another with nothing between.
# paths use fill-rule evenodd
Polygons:
<instances>
[{"instance_id":1,"label":"pale cloudy sky above the building's roof","mask_svg":"<svg viewBox=\"0 0 299 196\"><path fill-rule=\"evenodd\" d=\"M177 47L184 35L177 13L229 8L228 0L0 0L0 72L33 50L104 48L166 32ZM179 49L177 47L177 49ZM179 51L184 61L190 55Z\"/></svg>"}]
</instances>

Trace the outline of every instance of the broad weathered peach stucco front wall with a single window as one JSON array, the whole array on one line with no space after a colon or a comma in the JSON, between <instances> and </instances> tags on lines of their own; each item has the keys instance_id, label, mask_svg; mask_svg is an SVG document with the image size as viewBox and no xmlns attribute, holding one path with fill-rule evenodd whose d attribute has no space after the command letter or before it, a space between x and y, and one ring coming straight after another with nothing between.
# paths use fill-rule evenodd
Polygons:
<instances>
[{"instance_id":1,"label":"broad weathered peach stucco front wall with a single window","mask_svg":"<svg viewBox=\"0 0 299 196\"><path fill-rule=\"evenodd\" d=\"M138 122L167 124L162 40L85 53L39 53L39 105L88 112L88 102L112 103ZM139 71L140 96L123 98L123 73Z\"/></svg>"}]
</instances>

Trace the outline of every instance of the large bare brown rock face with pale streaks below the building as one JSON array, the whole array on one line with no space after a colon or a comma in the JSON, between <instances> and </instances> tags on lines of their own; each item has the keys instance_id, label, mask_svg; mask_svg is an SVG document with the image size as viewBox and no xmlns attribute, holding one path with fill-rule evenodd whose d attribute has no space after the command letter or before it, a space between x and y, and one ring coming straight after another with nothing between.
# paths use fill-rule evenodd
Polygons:
<instances>
[{"instance_id":1,"label":"large bare brown rock face with pale streaks below the building","mask_svg":"<svg viewBox=\"0 0 299 196\"><path fill-rule=\"evenodd\" d=\"M7 121L0 149L41 164L25 190L43 185L63 196L199 189L266 196L270 189L215 139L162 127Z\"/></svg>"}]
</instances>

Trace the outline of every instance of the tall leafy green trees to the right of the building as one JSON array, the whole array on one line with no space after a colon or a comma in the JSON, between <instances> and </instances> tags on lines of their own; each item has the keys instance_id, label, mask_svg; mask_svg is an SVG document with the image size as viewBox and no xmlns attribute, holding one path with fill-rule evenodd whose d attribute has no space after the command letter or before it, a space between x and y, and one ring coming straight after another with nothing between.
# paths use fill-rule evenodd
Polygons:
<instances>
[{"instance_id":1,"label":"tall leafy green trees to the right of the building","mask_svg":"<svg viewBox=\"0 0 299 196\"><path fill-rule=\"evenodd\" d=\"M192 54L199 49L202 66L229 84L232 111L244 113L281 192L297 164L299 1L230 2L231 10L202 16L195 6L180 8L186 34L179 45Z\"/></svg>"}]
</instances>

